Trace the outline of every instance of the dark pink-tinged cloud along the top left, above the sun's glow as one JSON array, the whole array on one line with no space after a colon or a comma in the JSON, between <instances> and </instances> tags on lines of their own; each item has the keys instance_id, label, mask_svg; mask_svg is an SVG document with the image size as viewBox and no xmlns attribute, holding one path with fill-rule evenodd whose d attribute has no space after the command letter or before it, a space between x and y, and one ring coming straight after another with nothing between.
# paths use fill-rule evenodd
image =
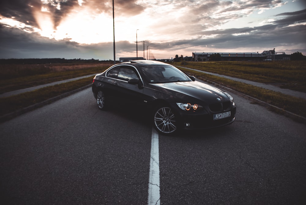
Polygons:
<instances>
[{"instance_id":1,"label":"dark pink-tinged cloud along the top left, above the sun's glow","mask_svg":"<svg viewBox=\"0 0 306 205\"><path fill-rule=\"evenodd\" d=\"M82 4L77 0L2 0L0 13L4 17L14 18L33 27L40 26L37 13L48 14L56 29L72 10L77 11L84 7L88 7L88 15L106 13L112 16L112 4L109 0L83 0ZM137 15L144 10L136 0L117 0L115 7L117 15L120 16Z\"/></svg>"}]
</instances>

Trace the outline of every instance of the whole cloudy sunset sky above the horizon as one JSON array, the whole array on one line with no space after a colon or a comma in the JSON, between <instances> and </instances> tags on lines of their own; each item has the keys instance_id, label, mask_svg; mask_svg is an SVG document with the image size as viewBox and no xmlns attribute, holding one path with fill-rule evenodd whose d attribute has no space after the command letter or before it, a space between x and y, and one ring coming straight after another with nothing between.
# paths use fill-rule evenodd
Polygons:
<instances>
[{"instance_id":1,"label":"whole cloudy sunset sky above the horizon","mask_svg":"<svg viewBox=\"0 0 306 205\"><path fill-rule=\"evenodd\" d=\"M306 0L114 0L114 22L111 0L0 0L0 59L114 60L114 38L116 60L306 55Z\"/></svg>"}]
</instances>

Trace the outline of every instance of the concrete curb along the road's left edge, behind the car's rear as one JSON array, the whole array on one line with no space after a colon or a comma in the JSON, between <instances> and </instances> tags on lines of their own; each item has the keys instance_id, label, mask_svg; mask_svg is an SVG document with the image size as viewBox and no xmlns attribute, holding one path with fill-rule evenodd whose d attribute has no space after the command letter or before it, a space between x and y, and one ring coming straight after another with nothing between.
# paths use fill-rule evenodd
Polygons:
<instances>
[{"instance_id":1,"label":"concrete curb along the road's left edge, behind the car's rear","mask_svg":"<svg viewBox=\"0 0 306 205\"><path fill-rule=\"evenodd\" d=\"M33 104L33 105L29 106L29 107L19 109L19 110L15 111L15 112L11 112L11 113L8 113L6 115L0 116L0 123L2 123L4 121L7 121L7 120L11 120L14 117L20 116L20 115L22 115L22 114L24 114L26 112L30 112L30 111L35 110L37 108L43 107L44 105L47 105L47 104L50 104L52 102L58 101L58 100L60 100L60 99L62 99L64 97L67 97L69 95L72 95L74 93L77 93L77 92L79 92L81 90L84 90L86 88L89 88L89 87L91 87L91 84L86 85L86 86L81 87L81 88L78 88L76 90L69 91L67 93L63 93L63 94L61 94L59 96L52 97L52 98L50 98L48 100L45 100L43 102Z\"/></svg>"}]
</instances>

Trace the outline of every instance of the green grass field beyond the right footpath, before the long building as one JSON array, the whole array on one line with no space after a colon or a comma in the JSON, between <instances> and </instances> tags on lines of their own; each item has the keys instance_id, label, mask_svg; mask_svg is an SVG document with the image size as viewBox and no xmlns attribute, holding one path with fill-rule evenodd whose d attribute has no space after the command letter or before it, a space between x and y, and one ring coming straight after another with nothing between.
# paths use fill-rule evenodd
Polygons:
<instances>
[{"instance_id":1,"label":"green grass field beyond the right footpath, before the long building","mask_svg":"<svg viewBox=\"0 0 306 205\"><path fill-rule=\"evenodd\" d=\"M174 65L306 92L305 61L183 62Z\"/></svg>"}]
</instances>

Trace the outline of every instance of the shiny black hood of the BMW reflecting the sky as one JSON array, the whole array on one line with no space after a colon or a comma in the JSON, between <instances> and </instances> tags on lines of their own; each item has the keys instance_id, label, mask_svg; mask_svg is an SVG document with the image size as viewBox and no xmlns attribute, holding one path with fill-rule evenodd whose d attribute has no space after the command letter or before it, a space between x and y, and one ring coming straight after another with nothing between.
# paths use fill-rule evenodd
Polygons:
<instances>
[{"instance_id":1,"label":"shiny black hood of the BMW reflecting the sky","mask_svg":"<svg viewBox=\"0 0 306 205\"><path fill-rule=\"evenodd\" d=\"M174 91L172 94L181 99L184 99L184 96L181 94L185 94L207 104L230 100L222 90L197 81L158 83L152 85L155 85L157 88L162 88L163 91L166 89L169 93ZM218 101L217 98L221 101Z\"/></svg>"}]
</instances>

